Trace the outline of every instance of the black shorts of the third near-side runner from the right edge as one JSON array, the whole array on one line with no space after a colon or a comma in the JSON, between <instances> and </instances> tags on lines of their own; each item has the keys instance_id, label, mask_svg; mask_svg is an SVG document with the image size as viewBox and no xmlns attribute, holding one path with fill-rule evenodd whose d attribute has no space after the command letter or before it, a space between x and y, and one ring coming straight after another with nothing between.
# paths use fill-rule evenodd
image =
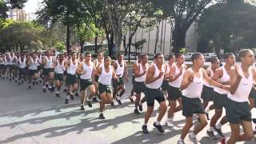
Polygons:
<instances>
[{"instance_id":1,"label":"black shorts of the third near-side runner from the right edge","mask_svg":"<svg viewBox=\"0 0 256 144\"><path fill-rule=\"evenodd\" d=\"M160 89L150 89L148 87L145 88L145 98L147 106L154 106L154 100L157 100L159 103L166 101Z\"/></svg>"}]
</instances>

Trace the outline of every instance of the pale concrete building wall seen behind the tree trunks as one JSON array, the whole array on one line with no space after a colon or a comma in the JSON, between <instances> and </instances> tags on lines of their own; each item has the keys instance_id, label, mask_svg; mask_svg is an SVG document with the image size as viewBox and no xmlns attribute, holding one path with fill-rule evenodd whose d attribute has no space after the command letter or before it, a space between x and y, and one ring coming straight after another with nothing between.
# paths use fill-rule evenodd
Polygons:
<instances>
[{"instance_id":1,"label":"pale concrete building wall seen behind the tree trunks","mask_svg":"<svg viewBox=\"0 0 256 144\"><path fill-rule=\"evenodd\" d=\"M190 29L187 31L186 34L186 47L189 48L189 51L196 51L198 47L198 34L196 32L196 23L193 23L190 26ZM162 37L161 37L162 35ZM156 43L156 36L157 36L157 26L154 29L138 29L137 33L134 34L134 38L132 39L132 43L138 42L143 38L146 39L146 43L144 43L142 48L142 53L146 54L154 54L154 46ZM157 43L157 53L162 54L170 54L172 50L172 46L170 44L171 41L171 26L168 20L163 20L159 26L159 33L158 33L158 43ZM128 35L127 35L127 42L128 43ZM162 41L161 41L162 38ZM162 43L162 44L161 44ZM134 52L134 46L131 46L131 52ZM140 52L140 50L138 51Z\"/></svg>"}]
</instances>

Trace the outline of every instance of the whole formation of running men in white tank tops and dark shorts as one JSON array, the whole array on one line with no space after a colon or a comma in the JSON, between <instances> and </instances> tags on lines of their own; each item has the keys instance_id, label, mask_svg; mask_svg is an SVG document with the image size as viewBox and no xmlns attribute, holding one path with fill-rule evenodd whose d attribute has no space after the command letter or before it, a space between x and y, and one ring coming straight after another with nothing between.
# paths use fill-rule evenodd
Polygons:
<instances>
[{"instance_id":1,"label":"whole formation of running men in white tank tops and dark shorts","mask_svg":"<svg viewBox=\"0 0 256 144\"><path fill-rule=\"evenodd\" d=\"M105 119L103 111L106 104L114 106L115 100L118 105L122 105L122 95L126 92L123 78L129 82L128 68L123 54L118 54L114 62L110 57L104 57L102 52L98 53L98 58L94 61L91 57L90 53L78 56L75 52L56 55L51 50L47 50L45 54L1 54L0 77L14 80L18 85L27 82L29 89L42 82L42 91L55 91L56 97L60 97L60 90L65 86L66 104L70 99L74 100L74 95L80 94L80 109L85 110L85 102L89 107L92 107L93 101L99 102L99 118ZM156 100L159 103L159 113L154 127L161 133L165 132L161 121L166 111L165 124L173 127L175 113L182 110L186 124L182 128L178 144L185 143L184 139L193 126L195 114L198 116L198 124L188 135L194 143L198 143L196 135L208 125L208 121L210 123L206 134L211 139L217 139L214 134L216 131L222 137L221 143L250 141L255 133L250 113L256 99L254 53L247 49L241 50L239 57L241 63L235 64L234 54L225 54L224 66L220 66L218 58L212 58L211 66L204 69L204 57L198 52L192 55L193 64L190 68L184 64L183 54L170 55L167 63L163 54L156 54L152 63L148 62L147 54L140 54L133 65L130 102L134 102L134 114L141 114L142 104L146 102L142 132L150 133L147 123ZM143 98L142 93L145 95ZM213 104L209 106L209 102ZM224 117L223 108L226 110ZM210 110L215 110L212 118ZM221 128L226 122L230 122L230 138L222 133ZM243 134L240 134L240 126Z\"/></svg>"}]
</instances>

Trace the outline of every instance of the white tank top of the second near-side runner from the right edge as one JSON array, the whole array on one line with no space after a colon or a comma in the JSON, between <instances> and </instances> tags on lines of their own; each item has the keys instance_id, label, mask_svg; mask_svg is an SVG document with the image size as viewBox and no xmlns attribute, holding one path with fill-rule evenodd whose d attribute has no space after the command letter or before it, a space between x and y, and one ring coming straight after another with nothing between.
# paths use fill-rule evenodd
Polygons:
<instances>
[{"instance_id":1,"label":"white tank top of the second near-side runner from the right edge","mask_svg":"<svg viewBox=\"0 0 256 144\"><path fill-rule=\"evenodd\" d=\"M191 68L189 70L194 74L194 71ZM201 69L199 70L199 75L199 78L194 75L193 82L191 82L190 85L186 87L186 89L182 90L183 96L187 98L200 98L203 82L203 75Z\"/></svg>"}]
</instances>

